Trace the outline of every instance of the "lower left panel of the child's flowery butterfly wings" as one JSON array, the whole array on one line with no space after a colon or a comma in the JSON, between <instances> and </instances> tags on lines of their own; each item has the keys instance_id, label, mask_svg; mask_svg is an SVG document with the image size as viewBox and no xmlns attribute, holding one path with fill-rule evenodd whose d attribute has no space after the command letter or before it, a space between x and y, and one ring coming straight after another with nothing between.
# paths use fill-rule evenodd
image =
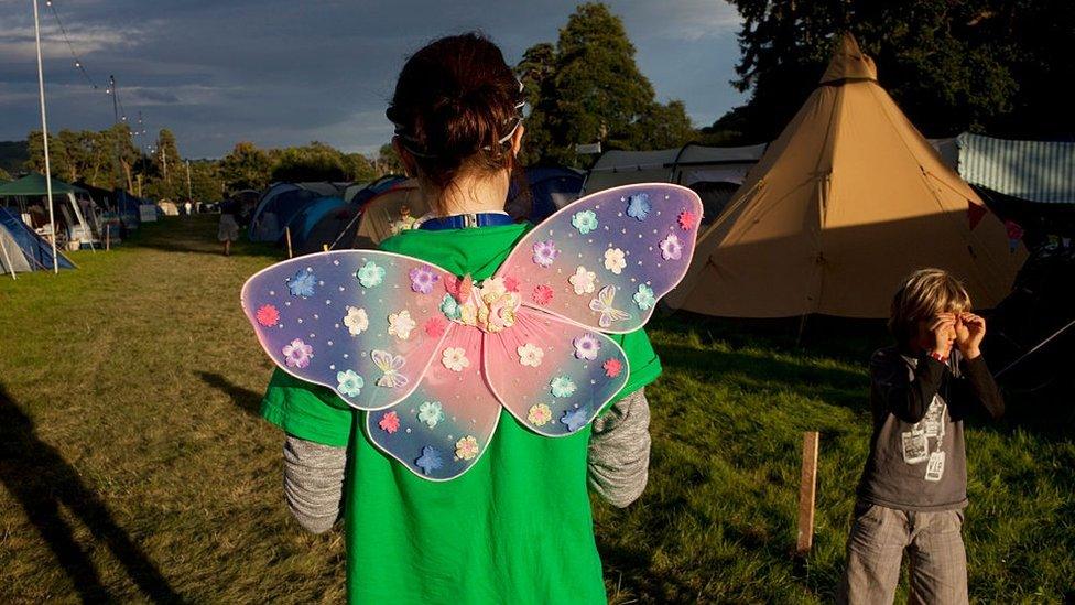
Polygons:
<instances>
[{"instance_id":1,"label":"lower left panel of the child's flowery butterfly wings","mask_svg":"<svg viewBox=\"0 0 1075 605\"><path fill-rule=\"evenodd\" d=\"M481 357L481 332L453 324L421 385L391 409L366 414L370 440L422 478L466 473L485 454L500 419Z\"/></svg>"}]
</instances>

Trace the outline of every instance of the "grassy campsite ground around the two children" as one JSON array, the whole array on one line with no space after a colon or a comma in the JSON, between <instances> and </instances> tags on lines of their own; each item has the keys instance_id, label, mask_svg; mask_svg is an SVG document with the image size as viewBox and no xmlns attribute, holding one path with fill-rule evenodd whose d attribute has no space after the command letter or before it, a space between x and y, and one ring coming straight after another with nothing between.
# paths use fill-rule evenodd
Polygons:
<instances>
[{"instance_id":1,"label":"grassy campsite ground around the two children","mask_svg":"<svg viewBox=\"0 0 1075 605\"><path fill-rule=\"evenodd\" d=\"M213 236L213 217L172 218L78 270L0 279L0 602L343 598L341 534L290 520L281 435L257 417L270 365L238 292L279 251L225 258ZM595 503L612 602L832 601L884 335L795 332L651 324L650 485L627 510ZM806 430L816 538L797 560ZM973 423L967 443L971 598L1075 597L1072 437Z\"/></svg>"}]
</instances>

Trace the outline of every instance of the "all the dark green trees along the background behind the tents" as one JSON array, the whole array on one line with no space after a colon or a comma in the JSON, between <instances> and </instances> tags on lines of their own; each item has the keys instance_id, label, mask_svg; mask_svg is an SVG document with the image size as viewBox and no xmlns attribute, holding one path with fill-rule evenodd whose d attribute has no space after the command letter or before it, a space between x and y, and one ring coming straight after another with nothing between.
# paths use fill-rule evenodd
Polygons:
<instances>
[{"instance_id":1,"label":"all the dark green trees along the background behind the tents","mask_svg":"<svg viewBox=\"0 0 1075 605\"><path fill-rule=\"evenodd\" d=\"M728 1L743 20L729 84L750 93L745 105L695 128L681 100L656 99L620 18L600 2L579 4L555 43L532 45L515 65L530 106L523 163L588 168L595 156L578 153L583 143L651 150L770 141L817 85L834 42L847 31L927 136L1075 137L1066 96L1057 93L1075 75L1075 62L1063 60L1075 42L1075 2ZM61 130L50 138L53 171L67 181L184 198L187 166L173 133L161 130L151 152L132 141L126 125ZM40 171L40 133L31 132L28 143L26 168ZM239 142L220 160L192 160L189 190L197 199L216 199L273 181L369 181L399 172L391 144L366 156L317 141L284 149Z\"/></svg>"}]
</instances>

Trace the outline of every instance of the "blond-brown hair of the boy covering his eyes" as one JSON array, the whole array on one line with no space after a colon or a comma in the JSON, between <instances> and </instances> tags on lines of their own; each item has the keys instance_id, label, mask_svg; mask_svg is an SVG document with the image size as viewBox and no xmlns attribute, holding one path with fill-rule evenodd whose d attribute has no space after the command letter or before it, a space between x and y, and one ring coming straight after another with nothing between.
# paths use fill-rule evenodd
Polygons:
<instances>
[{"instance_id":1,"label":"blond-brown hair of the boy covering his eyes","mask_svg":"<svg viewBox=\"0 0 1075 605\"><path fill-rule=\"evenodd\" d=\"M917 333L919 320L940 313L970 311L970 294L944 269L919 269L911 273L892 298L889 331L900 344Z\"/></svg>"}]
</instances>

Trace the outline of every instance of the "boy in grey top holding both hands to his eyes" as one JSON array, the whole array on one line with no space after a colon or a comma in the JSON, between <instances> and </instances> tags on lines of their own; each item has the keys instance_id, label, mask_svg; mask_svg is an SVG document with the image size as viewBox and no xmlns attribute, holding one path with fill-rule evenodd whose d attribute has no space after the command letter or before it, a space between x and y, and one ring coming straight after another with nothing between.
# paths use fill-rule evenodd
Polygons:
<instances>
[{"instance_id":1,"label":"boy in grey top holding both hands to his eyes","mask_svg":"<svg viewBox=\"0 0 1075 605\"><path fill-rule=\"evenodd\" d=\"M904 549L911 603L967 603L963 420L1005 410L985 360L986 322L941 269L915 271L892 300L897 346L870 359L873 434L847 540L844 603L892 603Z\"/></svg>"}]
</instances>

